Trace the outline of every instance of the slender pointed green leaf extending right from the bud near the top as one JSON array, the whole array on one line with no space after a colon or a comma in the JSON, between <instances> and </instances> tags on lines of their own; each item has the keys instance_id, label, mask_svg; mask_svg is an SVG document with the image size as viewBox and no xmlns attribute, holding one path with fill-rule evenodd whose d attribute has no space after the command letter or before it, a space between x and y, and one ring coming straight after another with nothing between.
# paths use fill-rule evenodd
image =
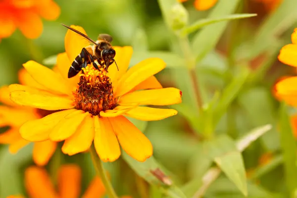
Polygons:
<instances>
[{"instance_id":1,"label":"slender pointed green leaf extending right from the bud near the top","mask_svg":"<svg viewBox=\"0 0 297 198\"><path fill-rule=\"evenodd\" d=\"M206 25L210 25L213 23L221 22L221 21L249 18L249 17L253 17L256 15L257 14L230 14L227 16L221 16L221 17L215 17L215 18L199 19L197 22L193 23L192 25L183 28L180 32L180 35L185 37L188 34L191 34Z\"/></svg>"}]
</instances>

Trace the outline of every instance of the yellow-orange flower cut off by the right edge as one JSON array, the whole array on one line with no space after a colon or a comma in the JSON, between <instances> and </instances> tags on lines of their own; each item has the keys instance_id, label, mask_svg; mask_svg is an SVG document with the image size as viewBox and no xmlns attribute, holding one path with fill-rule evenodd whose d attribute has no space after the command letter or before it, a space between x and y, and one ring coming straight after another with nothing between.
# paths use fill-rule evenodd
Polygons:
<instances>
[{"instance_id":1,"label":"yellow-orange flower cut off by the right edge","mask_svg":"<svg viewBox=\"0 0 297 198\"><path fill-rule=\"evenodd\" d=\"M297 28L291 38L292 44L288 44L281 49L278 59L287 65L297 67ZM280 80L276 83L274 90L277 99L297 106L297 76Z\"/></svg>"}]
</instances>

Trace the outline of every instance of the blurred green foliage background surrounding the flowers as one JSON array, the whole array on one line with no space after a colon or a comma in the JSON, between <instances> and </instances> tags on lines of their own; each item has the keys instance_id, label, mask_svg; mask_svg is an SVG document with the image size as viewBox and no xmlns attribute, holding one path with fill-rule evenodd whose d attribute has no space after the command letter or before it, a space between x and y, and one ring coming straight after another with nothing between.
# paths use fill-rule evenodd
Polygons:
<instances>
[{"instance_id":1,"label":"blurred green foliage background surrounding the flowers","mask_svg":"<svg viewBox=\"0 0 297 198\"><path fill-rule=\"evenodd\" d=\"M177 116L149 123L132 120L152 142L154 158L141 164L124 155L116 162L104 163L118 195L294 197L296 142L290 127L279 130L290 123L287 108L279 108L272 90L278 78L296 73L277 60L279 50L291 43L297 27L296 0L283 0L275 10L265 9L264 1L218 0L206 11L196 10L193 0L183 4L175 0L55 1L61 15L56 21L44 20L40 38L28 40L16 31L1 40L1 86L16 83L18 70L28 60L53 66L55 55L64 51L67 30L60 25L63 23L82 26L94 40L99 33L107 33L112 35L114 46L133 46L131 66L147 57L163 58L167 68L157 75L158 80L163 87L177 87L183 92L183 103L172 106L179 111ZM172 11L173 5L176 9ZM200 29L194 25L189 40L180 36L180 31L188 31L187 27L201 19L213 23L234 13L258 15L224 19ZM172 28L171 19L181 29ZM192 69L187 65L189 54L194 57ZM258 130L252 131L255 128ZM253 138L259 139L250 144ZM240 140L250 144L244 151L236 144ZM11 155L6 146L0 146L0 198L25 193L23 172L33 164L31 150L28 146ZM95 174L89 154L69 157L57 150L47 165L53 178L60 163L80 164L86 189ZM150 175L149 170L157 167L169 175L173 186L167 187ZM205 183L203 176L211 182ZM142 186L147 194L139 190L142 178L150 184L144 182Z\"/></svg>"}]
</instances>

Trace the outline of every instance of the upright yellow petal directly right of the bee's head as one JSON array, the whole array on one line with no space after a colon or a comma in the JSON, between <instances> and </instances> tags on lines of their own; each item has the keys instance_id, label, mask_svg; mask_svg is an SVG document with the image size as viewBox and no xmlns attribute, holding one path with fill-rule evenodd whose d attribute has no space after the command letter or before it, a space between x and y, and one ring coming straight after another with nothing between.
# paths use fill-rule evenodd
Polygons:
<instances>
[{"instance_id":1,"label":"upright yellow petal directly right of the bee's head","mask_svg":"<svg viewBox=\"0 0 297 198\"><path fill-rule=\"evenodd\" d=\"M126 73L130 59L132 57L133 49L131 46L124 46L124 47L114 47L115 50L115 62L119 67L119 71L116 68L115 63L113 63L108 68L107 76L110 77L112 85L115 87L117 84L117 80Z\"/></svg>"}]
</instances>

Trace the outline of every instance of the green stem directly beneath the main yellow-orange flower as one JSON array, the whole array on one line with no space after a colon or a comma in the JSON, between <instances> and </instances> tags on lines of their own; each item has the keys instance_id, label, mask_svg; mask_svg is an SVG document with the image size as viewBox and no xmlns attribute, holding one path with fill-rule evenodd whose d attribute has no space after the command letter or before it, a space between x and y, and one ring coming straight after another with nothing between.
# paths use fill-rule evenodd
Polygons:
<instances>
[{"instance_id":1,"label":"green stem directly beneath the main yellow-orange flower","mask_svg":"<svg viewBox=\"0 0 297 198\"><path fill-rule=\"evenodd\" d=\"M108 178L107 178L107 175L103 168L102 161L99 158L94 145L91 146L90 152L91 152L92 161L95 166L97 175L101 178L101 181L105 186L106 193L107 193L108 197L109 198L118 198L117 195L115 194Z\"/></svg>"}]
</instances>

